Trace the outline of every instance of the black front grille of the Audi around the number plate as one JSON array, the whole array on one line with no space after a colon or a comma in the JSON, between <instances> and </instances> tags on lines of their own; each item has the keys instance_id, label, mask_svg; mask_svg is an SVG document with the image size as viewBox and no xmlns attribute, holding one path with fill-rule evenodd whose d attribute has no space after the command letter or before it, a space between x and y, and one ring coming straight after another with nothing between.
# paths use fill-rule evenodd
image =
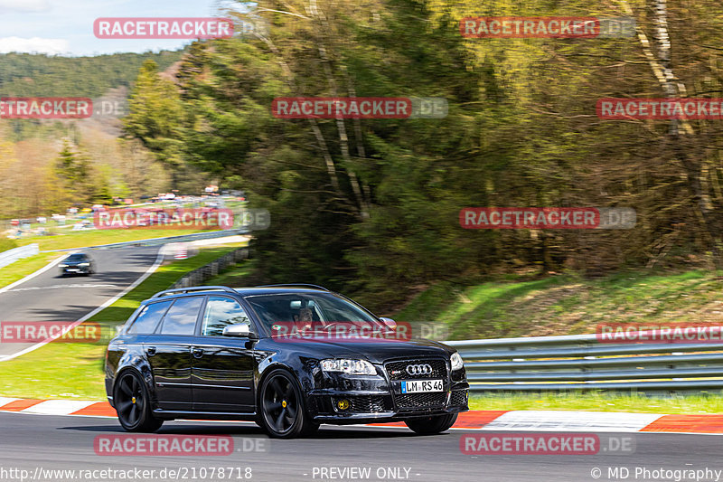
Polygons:
<instances>
[{"instance_id":1,"label":"black front grille of the Audi around the number plate","mask_svg":"<svg viewBox=\"0 0 723 482\"><path fill-rule=\"evenodd\" d=\"M432 373L410 375L407 373L408 364L429 364L432 367ZM385 364L387 373L390 375L392 382L398 380L424 380L424 379L441 379L445 385L444 392L431 393L394 393L394 402L399 411L419 411L419 410L436 410L445 407L446 391L448 390L448 380L446 373L446 361L442 359L417 359L394 361Z\"/></svg>"}]
</instances>

